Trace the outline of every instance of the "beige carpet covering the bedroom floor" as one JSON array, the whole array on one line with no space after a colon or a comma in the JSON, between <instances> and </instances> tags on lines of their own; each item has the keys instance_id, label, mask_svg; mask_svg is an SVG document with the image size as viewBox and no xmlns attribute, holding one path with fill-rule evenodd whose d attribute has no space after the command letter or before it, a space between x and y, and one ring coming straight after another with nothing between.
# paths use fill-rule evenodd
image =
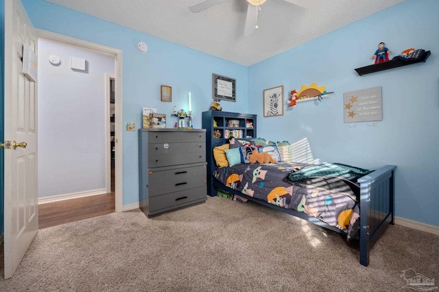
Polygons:
<instances>
[{"instance_id":1,"label":"beige carpet covering the bedroom floor","mask_svg":"<svg viewBox=\"0 0 439 292\"><path fill-rule=\"evenodd\" d=\"M39 230L0 291L412 291L410 268L438 287L436 235L389 226L368 267L358 256L337 233L209 197L152 219L136 210Z\"/></svg>"}]
</instances>

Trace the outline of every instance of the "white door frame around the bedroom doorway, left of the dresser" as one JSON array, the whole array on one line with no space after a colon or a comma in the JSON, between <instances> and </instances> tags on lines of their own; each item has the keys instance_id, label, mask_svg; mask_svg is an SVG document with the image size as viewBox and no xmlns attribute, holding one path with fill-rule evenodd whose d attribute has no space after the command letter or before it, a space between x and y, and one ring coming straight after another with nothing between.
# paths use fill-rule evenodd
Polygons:
<instances>
[{"instance_id":1,"label":"white door frame around the bedroom doorway, left of the dresser","mask_svg":"<svg viewBox=\"0 0 439 292\"><path fill-rule=\"evenodd\" d=\"M56 34L43 29L36 29L38 37L48 38L57 42L73 44L78 47L84 47L88 51L95 51L102 55L115 57L115 211L123 211L123 141L122 141L122 51L112 47L106 47L102 44L95 44L86 40ZM108 113L108 111L107 111ZM108 115L107 115L108 116ZM108 155L108 153L107 153Z\"/></svg>"}]
</instances>

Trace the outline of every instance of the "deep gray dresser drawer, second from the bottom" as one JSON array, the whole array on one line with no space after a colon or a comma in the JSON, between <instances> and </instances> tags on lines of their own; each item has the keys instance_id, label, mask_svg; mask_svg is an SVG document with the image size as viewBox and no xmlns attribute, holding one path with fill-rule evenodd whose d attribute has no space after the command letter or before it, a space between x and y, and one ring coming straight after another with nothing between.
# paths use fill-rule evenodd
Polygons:
<instances>
[{"instance_id":1,"label":"deep gray dresser drawer, second from the bottom","mask_svg":"<svg viewBox=\"0 0 439 292\"><path fill-rule=\"evenodd\" d=\"M175 191L206 186L206 165L185 166L165 170L150 169L148 196L160 196Z\"/></svg>"}]
</instances>

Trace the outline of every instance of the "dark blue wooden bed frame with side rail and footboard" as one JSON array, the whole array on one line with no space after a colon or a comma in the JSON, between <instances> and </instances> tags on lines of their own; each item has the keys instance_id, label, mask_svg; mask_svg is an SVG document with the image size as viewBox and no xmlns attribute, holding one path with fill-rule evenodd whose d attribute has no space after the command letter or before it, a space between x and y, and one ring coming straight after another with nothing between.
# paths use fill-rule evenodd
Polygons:
<instances>
[{"instance_id":1,"label":"dark blue wooden bed frame with side rail and footboard","mask_svg":"<svg viewBox=\"0 0 439 292\"><path fill-rule=\"evenodd\" d=\"M207 137L209 140L209 137ZM288 213L295 217L299 217L303 220L307 220L318 226L322 226L329 230L333 230L336 233L341 233L346 235L344 231L331 226L318 220L316 217L307 215L306 213L298 212L292 209L284 209L278 207L274 204L270 204L263 200L258 200L250 196L246 196L230 187L226 187L219 181L217 181L212 172L215 169L215 159L213 158L213 148L219 146L226 142L223 139L211 138L208 141L208 145L211 146L210 150L207 150L207 191L209 196L216 196L217 189L222 189L231 194L235 194L251 200L252 202L257 202L258 204L263 204L266 207ZM396 170L396 165L385 165L374 172L363 176L358 179L360 185L360 218L359 218L359 235L357 239L359 240L359 263L367 267L369 264L369 254L370 248L377 241L379 236L383 233L385 228L389 224L394 224L394 172Z\"/></svg>"}]
</instances>

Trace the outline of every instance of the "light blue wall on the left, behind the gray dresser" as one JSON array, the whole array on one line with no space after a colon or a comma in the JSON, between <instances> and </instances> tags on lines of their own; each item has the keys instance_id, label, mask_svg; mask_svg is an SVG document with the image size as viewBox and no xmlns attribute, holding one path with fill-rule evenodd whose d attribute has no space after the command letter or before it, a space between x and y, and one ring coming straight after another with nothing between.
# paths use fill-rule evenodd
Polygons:
<instances>
[{"instance_id":1,"label":"light blue wall on the left, behind the gray dresser","mask_svg":"<svg viewBox=\"0 0 439 292\"><path fill-rule=\"evenodd\" d=\"M212 73L237 79L237 102L222 102L225 111L248 112L248 68L142 34L99 18L75 12L43 0L22 0L34 27L88 40L123 51L123 125L141 125L142 107L167 114L167 127L174 105L188 109L191 92L193 126L201 128L201 113L212 100ZM137 51L146 42L149 50ZM160 101L160 85L172 86L172 103ZM125 127L123 127L125 129ZM123 204L139 202L137 131L123 133Z\"/></svg>"}]
</instances>

